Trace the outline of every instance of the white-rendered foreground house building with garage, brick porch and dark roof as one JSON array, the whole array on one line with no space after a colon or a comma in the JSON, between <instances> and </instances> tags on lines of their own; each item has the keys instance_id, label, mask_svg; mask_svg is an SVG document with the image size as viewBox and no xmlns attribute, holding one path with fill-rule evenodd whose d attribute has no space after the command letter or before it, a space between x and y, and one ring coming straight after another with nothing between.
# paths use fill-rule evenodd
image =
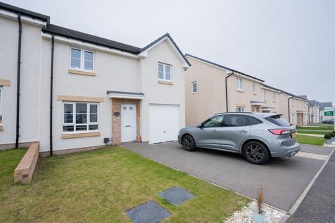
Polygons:
<instances>
[{"instance_id":1,"label":"white-rendered foreground house building with garage, brick porch and dark roof","mask_svg":"<svg viewBox=\"0 0 335 223\"><path fill-rule=\"evenodd\" d=\"M6 3L0 29L0 148L153 144L176 140L184 127L191 63L168 33L134 47Z\"/></svg>"}]
</instances>

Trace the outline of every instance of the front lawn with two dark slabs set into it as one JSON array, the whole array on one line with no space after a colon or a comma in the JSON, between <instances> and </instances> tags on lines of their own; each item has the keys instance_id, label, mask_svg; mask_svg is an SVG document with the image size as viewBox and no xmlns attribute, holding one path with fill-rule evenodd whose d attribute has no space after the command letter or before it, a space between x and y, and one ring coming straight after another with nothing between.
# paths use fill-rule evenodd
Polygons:
<instances>
[{"instance_id":1,"label":"front lawn with two dark slabs set into it","mask_svg":"<svg viewBox=\"0 0 335 223\"><path fill-rule=\"evenodd\" d=\"M31 184L15 185L23 153L0 151L0 222L131 222L125 211L150 200L172 213L163 222L223 222L250 201L120 147L40 158ZM157 196L176 185L196 197L176 207Z\"/></svg>"}]
</instances>

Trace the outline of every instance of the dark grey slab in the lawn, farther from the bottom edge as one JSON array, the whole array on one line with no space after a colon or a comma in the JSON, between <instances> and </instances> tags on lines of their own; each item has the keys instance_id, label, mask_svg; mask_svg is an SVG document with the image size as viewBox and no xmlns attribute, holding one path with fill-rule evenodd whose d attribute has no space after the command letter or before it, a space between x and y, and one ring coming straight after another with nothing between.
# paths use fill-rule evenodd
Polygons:
<instances>
[{"instance_id":1,"label":"dark grey slab in the lawn, farther from the bottom edge","mask_svg":"<svg viewBox=\"0 0 335 223\"><path fill-rule=\"evenodd\" d=\"M163 197L165 201L172 203L174 206L179 206L184 201L187 201L193 197L194 194L184 190L181 187L171 187L168 190L164 190L163 192L158 193L159 196Z\"/></svg>"}]
</instances>

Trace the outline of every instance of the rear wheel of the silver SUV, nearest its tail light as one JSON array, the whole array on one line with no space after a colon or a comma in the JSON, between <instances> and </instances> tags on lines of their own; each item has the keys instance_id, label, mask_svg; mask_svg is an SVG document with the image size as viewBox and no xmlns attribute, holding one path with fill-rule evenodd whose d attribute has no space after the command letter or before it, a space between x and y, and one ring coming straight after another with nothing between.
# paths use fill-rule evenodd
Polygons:
<instances>
[{"instance_id":1,"label":"rear wheel of the silver SUV, nearest its tail light","mask_svg":"<svg viewBox=\"0 0 335 223\"><path fill-rule=\"evenodd\" d=\"M249 141L244 145L244 157L252 164L265 164L270 159L270 154L264 144L259 141Z\"/></svg>"}]
</instances>

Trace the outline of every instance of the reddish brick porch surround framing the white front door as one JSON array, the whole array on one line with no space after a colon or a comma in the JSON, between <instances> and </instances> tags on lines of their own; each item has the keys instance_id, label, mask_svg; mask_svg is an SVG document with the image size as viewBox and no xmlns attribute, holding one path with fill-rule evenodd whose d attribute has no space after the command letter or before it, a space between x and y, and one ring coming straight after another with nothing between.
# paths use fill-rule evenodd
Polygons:
<instances>
[{"instance_id":1,"label":"reddish brick porch surround framing the white front door","mask_svg":"<svg viewBox=\"0 0 335 223\"><path fill-rule=\"evenodd\" d=\"M136 105L136 134L140 135L140 100L112 98L112 144L121 144L121 104ZM114 112L119 112L120 116L114 116Z\"/></svg>"}]
</instances>

